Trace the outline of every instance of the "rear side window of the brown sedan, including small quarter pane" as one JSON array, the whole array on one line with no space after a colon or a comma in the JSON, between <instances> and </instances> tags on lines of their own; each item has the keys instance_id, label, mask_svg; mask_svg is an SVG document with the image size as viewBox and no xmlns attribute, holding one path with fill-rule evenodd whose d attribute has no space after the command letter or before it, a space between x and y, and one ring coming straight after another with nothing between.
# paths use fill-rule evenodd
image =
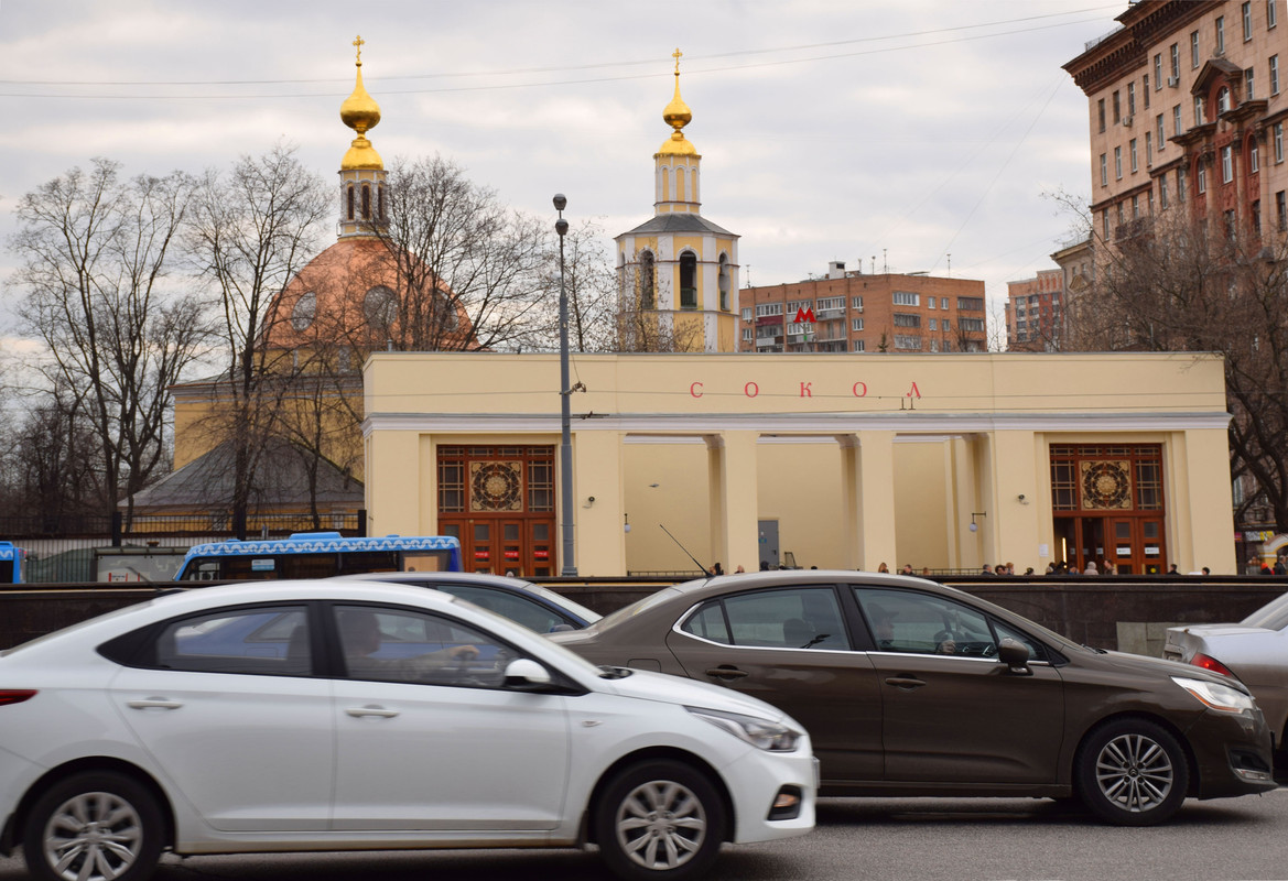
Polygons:
<instances>
[{"instance_id":1,"label":"rear side window of the brown sedan, including small quarter pane","mask_svg":"<svg viewBox=\"0 0 1288 881\"><path fill-rule=\"evenodd\" d=\"M701 607L680 630L717 643L755 648L850 648L832 587L734 594Z\"/></svg>"}]
</instances>

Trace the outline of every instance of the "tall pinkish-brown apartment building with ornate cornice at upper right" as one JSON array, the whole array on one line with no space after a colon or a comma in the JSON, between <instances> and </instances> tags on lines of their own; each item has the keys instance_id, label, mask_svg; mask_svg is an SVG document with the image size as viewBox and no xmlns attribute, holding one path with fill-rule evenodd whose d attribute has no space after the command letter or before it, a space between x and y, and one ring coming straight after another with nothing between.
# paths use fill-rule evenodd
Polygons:
<instances>
[{"instance_id":1,"label":"tall pinkish-brown apartment building with ornate cornice at upper right","mask_svg":"<svg viewBox=\"0 0 1288 881\"><path fill-rule=\"evenodd\" d=\"M1086 93L1094 236L1180 209L1227 234L1288 229L1284 0L1141 0L1066 63Z\"/></svg>"}]
</instances>

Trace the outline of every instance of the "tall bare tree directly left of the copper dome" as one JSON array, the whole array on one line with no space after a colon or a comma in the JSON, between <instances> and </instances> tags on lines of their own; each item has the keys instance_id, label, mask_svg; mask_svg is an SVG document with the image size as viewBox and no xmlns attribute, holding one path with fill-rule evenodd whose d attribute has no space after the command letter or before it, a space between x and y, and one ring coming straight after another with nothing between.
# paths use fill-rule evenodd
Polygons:
<instances>
[{"instance_id":1,"label":"tall bare tree directly left of the copper dome","mask_svg":"<svg viewBox=\"0 0 1288 881\"><path fill-rule=\"evenodd\" d=\"M330 188L305 169L292 147L243 156L227 174L209 173L189 224L189 249L219 308L218 336L227 358L213 384L218 406L205 429L210 446L227 444L233 528L243 535L260 456L281 431L281 406L292 371L290 352L264 345L277 294L313 256L331 207Z\"/></svg>"}]
</instances>

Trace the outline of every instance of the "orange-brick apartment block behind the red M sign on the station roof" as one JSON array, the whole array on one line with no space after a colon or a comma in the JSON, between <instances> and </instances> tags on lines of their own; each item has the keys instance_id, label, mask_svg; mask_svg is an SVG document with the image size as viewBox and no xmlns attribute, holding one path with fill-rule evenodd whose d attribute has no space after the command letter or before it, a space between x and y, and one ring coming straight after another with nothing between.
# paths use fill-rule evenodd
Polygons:
<instances>
[{"instance_id":1,"label":"orange-brick apartment block behind the red M sign on the station roof","mask_svg":"<svg viewBox=\"0 0 1288 881\"><path fill-rule=\"evenodd\" d=\"M738 291L739 352L984 352L984 282L922 273L827 276Z\"/></svg>"}]
</instances>

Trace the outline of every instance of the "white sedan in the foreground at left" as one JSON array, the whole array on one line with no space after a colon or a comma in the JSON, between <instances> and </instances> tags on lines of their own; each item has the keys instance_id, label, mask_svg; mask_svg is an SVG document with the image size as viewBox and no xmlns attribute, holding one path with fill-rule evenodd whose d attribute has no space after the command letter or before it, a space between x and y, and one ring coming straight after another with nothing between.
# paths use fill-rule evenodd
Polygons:
<instances>
[{"instance_id":1,"label":"white sedan in the foreground at left","mask_svg":"<svg viewBox=\"0 0 1288 881\"><path fill-rule=\"evenodd\" d=\"M813 828L815 774L766 703L402 585L189 590L0 654L0 851L48 881L139 881L165 850L585 844L689 878Z\"/></svg>"}]
</instances>

